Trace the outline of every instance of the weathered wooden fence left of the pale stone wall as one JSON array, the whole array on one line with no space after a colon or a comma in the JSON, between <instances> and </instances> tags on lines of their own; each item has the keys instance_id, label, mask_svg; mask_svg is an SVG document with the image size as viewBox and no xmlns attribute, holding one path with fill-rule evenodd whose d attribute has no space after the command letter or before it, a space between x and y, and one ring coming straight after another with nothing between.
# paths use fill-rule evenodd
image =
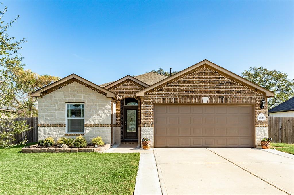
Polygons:
<instances>
[{"instance_id":1,"label":"weathered wooden fence left of the pale stone wall","mask_svg":"<svg viewBox=\"0 0 294 195\"><path fill-rule=\"evenodd\" d=\"M28 142L37 142L38 141L38 117L19 117L15 119L16 121L26 121L26 124L29 127L32 127L29 131L21 132L15 136L16 140L12 143L17 143L19 141L23 141L25 138ZM0 126L0 131L8 131L3 130L4 128Z\"/></svg>"}]
</instances>

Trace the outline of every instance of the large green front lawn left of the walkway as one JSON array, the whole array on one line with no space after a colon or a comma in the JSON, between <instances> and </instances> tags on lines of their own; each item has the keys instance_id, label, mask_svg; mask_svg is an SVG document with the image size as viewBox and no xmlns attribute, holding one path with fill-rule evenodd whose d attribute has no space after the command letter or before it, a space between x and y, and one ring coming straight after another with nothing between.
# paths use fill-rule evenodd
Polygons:
<instances>
[{"instance_id":1,"label":"large green front lawn left of the walkway","mask_svg":"<svg viewBox=\"0 0 294 195\"><path fill-rule=\"evenodd\" d=\"M0 194L133 194L139 153L0 149Z\"/></svg>"}]
</instances>

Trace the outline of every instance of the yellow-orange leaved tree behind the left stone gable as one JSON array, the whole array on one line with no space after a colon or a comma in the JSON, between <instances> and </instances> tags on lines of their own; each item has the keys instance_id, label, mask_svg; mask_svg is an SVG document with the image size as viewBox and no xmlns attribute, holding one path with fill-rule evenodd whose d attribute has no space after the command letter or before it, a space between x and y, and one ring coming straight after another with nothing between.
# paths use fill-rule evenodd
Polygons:
<instances>
[{"instance_id":1,"label":"yellow-orange leaved tree behind the left stone gable","mask_svg":"<svg viewBox=\"0 0 294 195\"><path fill-rule=\"evenodd\" d=\"M26 88L20 88L17 96L14 98L16 105L23 108L21 115L24 117L33 117L38 115L36 109L38 98L30 96L30 93L59 80L57 76L39 75L31 70L14 69L15 82L18 85L25 85Z\"/></svg>"}]
</instances>

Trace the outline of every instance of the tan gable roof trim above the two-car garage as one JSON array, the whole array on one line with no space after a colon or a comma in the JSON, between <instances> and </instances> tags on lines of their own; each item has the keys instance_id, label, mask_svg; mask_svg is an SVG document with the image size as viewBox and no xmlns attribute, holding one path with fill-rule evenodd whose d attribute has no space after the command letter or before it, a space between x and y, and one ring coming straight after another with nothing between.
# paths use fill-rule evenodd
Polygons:
<instances>
[{"instance_id":1,"label":"tan gable roof trim above the two-car garage","mask_svg":"<svg viewBox=\"0 0 294 195\"><path fill-rule=\"evenodd\" d=\"M222 67L220 67L220 66L218 66L218 65L216 65L216 64L214 64L214 63L212 63L212 62L210 62L208 60L203 60L201 62L198 62L197 64L194 64L193 66L188 67L187 69L184 69L184 70L182 70L182 71L180 71L180 72L178 72L178 73L176 73L176 74L174 74L174 75L172 75L170 77L167 77L167 78L163 79L162 81L159 81L159 82L157 82L157 83L155 83L153 85L150 85L149 87L137 92L136 96L138 96L138 97L141 96L142 97L149 90L152 90L152 89L154 89L154 88L156 88L156 87L158 87L160 85L163 85L163 84L167 83L168 81L172 81L173 79L176 79L176 78L182 76L183 74L188 73L188 72L190 72L190 71L192 71L192 70L194 70L194 69L196 69L196 68L198 68L199 66L202 66L202 65L210 66L213 69L216 69L217 71L220 71L220 72L230 76L231 78L233 78L233 79L235 79L235 80L237 80L237 81L239 81L241 83L244 83L245 85L248 85L248 86L250 86L252 88L255 88L255 89L265 93L267 97L272 97L274 95L273 92L271 92L271 91L269 91L269 90L267 90L267 89L265 89L265 88L263 88L263 87L261 87L259 85L256 85L255 83L252 83L251 81L248 81L245 78L236 75L235 73L232 73L232 72L230 72L230 71L228 71L228 70L226 70L226 69L224 69L224 68L222 68Z\"/></svg>"}]
</instances>

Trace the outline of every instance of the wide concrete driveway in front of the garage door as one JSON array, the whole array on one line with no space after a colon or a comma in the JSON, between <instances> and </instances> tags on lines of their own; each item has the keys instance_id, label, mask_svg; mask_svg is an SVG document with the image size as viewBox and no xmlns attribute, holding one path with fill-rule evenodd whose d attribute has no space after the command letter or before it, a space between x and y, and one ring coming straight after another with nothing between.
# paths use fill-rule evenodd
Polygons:
<instances>
[{"instance_id":1,"label":"wide concrete driveway in front of the garage door","mask_svg":"<svg viewBox=\"0 0 294 195\"><path fill-rule=\"evenodd\" d=\"M154 148L163 194L294 194L294 159L254 148Z\"/></svg>"}]
</instances>

